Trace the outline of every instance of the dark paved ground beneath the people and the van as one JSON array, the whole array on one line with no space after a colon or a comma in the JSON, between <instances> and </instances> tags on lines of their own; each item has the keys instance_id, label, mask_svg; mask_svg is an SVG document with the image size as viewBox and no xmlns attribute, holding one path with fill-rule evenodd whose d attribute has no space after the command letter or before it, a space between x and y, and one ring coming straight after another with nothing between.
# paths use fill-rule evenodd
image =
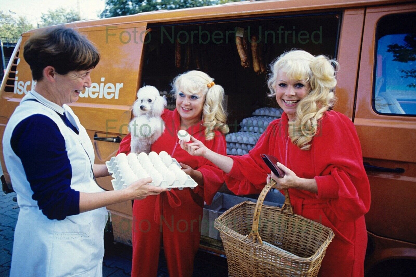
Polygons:
<instances>
[{"instance_id":1,"label":"dark paved ground beneath the people and the van","mask_svg":"<svg viewBox=\"0 0 416 277\"><path fill-rule=\"evenodd\" d=\"M8 277L12 259L13 235L17 222L19 207L12 199L16 193L0 192L0 277ZM123 244L112 245L106 249L103 260L103 276L130 276L131 247ZM195 277L227 276L226 260L205 252L198 252L194 263ZM166 260L161 251L158 265L158 277L168 277Z\"/></svg>"}]
</instances>

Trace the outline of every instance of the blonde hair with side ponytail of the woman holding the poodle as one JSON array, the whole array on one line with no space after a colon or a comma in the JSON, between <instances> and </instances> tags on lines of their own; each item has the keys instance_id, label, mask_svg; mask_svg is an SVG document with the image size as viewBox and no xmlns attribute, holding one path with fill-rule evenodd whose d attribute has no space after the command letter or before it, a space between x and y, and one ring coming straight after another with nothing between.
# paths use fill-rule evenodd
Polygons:
<instances>
[{"instance_id":1,"label":"blonde hair with side ponytail of the woman holding the poodle","mask_svg":"<svg viewBox=\"0 0 416 277\"><path fill-rule=\"evenodd\" d=\"M227 134L227 115L223 108L224 89L218 84L213 84L214 79L208 74L191 70L180 74L173 79L172 92L174 97L178 94L178 88L184 94L202 93L204 105L202 108L202 121L205 126L205 139L210 140L215 136L215 130Z\"/></svg>"}]
</instances>

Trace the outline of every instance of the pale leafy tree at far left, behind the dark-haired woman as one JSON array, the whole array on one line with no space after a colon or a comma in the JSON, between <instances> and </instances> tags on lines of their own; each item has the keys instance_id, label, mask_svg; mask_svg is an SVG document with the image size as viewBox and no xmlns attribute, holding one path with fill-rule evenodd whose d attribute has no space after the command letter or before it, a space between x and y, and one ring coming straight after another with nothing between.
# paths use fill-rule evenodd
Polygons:
<instances>
[{"instance_id":1,"label":"pale leafy tree at far left, behind the dark-haired woman","mask_svg":"<svg viewBox=\"0 0 416 277\"><path fill-rule=\"evenodd\" d=\"M0 37L20 37L22 33L33 28L26 17L19 16L15 19L12 15L0 11Z\"/></svg>"}]
</instances>

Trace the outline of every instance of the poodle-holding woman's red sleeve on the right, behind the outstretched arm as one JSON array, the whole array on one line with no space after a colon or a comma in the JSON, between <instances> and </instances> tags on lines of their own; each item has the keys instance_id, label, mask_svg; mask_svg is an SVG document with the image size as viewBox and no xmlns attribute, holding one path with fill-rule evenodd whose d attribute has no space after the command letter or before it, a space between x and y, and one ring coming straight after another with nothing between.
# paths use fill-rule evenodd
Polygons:
<instances>
[{"instance_id":1,"label":"poodle-holding woman's red sleeve on the right, behind the outstretched arm","mask_svg":"<svg viewBox=\"0 0 416 277\"><path fill-rule=\"evenodd\" d=\"M215 136L213 138L213 143L212 146L210 146L210 149L215 153L227 155L227 144L225 143L225 136L219 131L215 131ZM201 195L204 201L210 205L215 193L218 192L224 183L223 171L207 159L204 159L204 164L196 170L202 173L203 186L197 186L194 188L194 192Z\"/></svg>"}]
</instances>

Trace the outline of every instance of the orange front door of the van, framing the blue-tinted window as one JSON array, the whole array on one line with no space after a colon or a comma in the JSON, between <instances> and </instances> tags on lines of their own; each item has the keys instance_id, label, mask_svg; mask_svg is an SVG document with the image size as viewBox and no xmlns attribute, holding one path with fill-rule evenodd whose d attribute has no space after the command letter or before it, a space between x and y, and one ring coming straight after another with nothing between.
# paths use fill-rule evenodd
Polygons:
<instances>
[{"instance_id":1,"label":"orange front door of the van, framing the blue-tinted window","mask_svg":"<svg viewBox=\"0 0 416 277\"><path fill-rule=\"evenodd\" d=\"M404 169L403 173L367 171L371 186L371 207L365 215L367 229L380 237L413 243L416 242L416 117L378 114L372 106L372 95L377 22L385 15L415 11L415 5L367 9L354 119L364 163Z\"/></svg>"}]
</instances>

